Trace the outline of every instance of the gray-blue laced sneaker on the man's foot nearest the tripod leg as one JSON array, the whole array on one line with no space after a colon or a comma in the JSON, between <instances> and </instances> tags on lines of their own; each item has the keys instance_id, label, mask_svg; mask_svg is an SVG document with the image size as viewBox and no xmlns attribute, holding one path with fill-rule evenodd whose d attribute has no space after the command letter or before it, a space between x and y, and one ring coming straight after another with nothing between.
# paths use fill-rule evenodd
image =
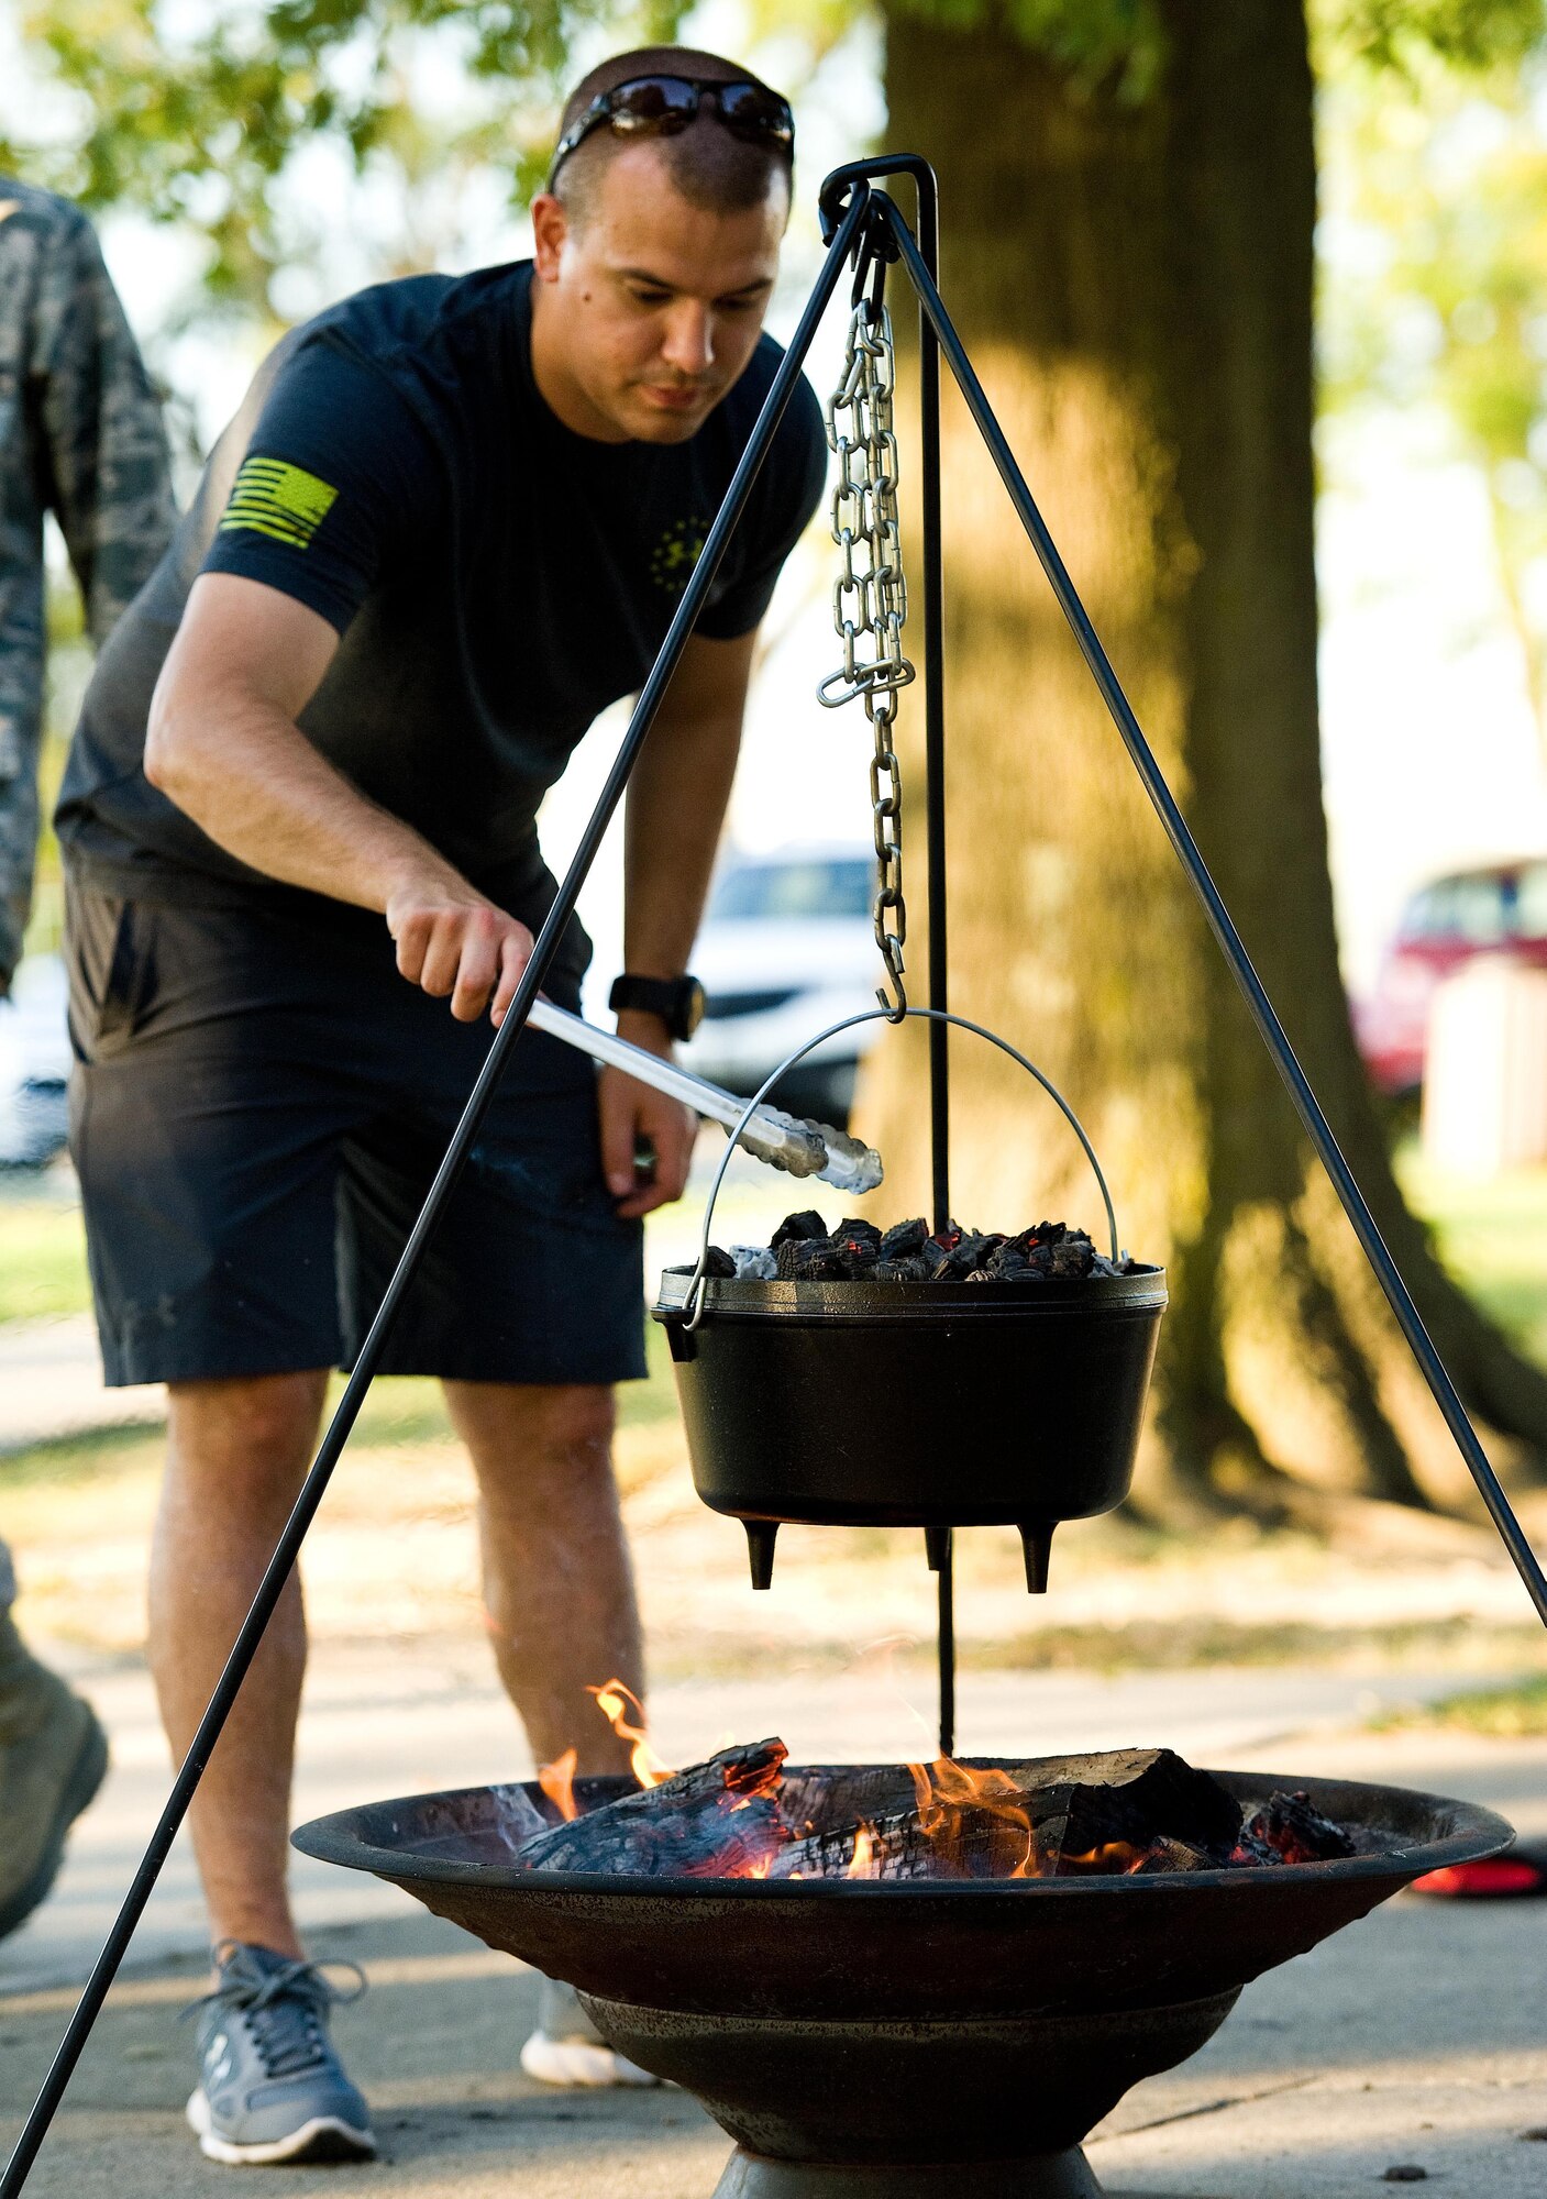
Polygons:
<instances>
[{"instance_id":1,"label":"gray-blue laced sneaker on the man's foot nearest the tripod leg","mask_svg":"<svg viewBox=\"0 0 1547 2199\"><path fill-rule=\"evenodd\" d=\"M327 2036L327 2010L365 1979L341 1994L316 1964L235 1940L215 1964L220 1983L193 2003L200 2087L187 2115L200 2153L244 2166L374 2159L369 2109Z\"/></svg>"}]
</instances>

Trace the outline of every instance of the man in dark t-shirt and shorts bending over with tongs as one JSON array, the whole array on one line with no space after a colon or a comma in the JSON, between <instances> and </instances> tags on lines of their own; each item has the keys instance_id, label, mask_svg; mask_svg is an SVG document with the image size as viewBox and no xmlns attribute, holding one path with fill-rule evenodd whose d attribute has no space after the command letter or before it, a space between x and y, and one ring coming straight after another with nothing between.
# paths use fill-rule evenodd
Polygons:
<instances>
[{"instance_id":1,"label":"man in dark t-shirt and shorts bending over with tongs","mask_svg":"<svg viewBox=\"0 0 1547 2199\"><path fill-rule=\"evenodd\" d=\"M152 1662L178 1757L552 902L538 803L644 679L778 365L789 163L789 108L730 62L593 70L534 259L288 336L88 690L59 805L73 1152L108 1381L169 1388ZM628 794L613 1005L657 1053L822 473L802 385ZM587 959L571 924L567 1007ZM672 1102L523 1034L382 1361L444 1381L501 1678L538 1759L582 1770L622 1768L585 1684L642 1687L611 1385L644 1374L639 1216L690 1141ZM286 1900L303 1662L290 1581L191 1814L218 1977L189 2118L220 2162L374 2144ZM549 2003L543 2030L574 2023Z\"/></svg>"}]
</instances>

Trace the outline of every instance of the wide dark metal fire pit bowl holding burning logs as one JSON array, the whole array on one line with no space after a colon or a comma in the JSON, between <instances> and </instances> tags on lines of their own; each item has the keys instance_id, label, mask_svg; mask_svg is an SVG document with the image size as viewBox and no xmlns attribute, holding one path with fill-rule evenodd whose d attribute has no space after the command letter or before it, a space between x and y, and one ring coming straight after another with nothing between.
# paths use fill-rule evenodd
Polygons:
<instances>
[{"instance_id":1,"label":"wide dark metal fire pit bowl holding burning logs","mask_svg":"<svg viewBox=\"0 0 1547 2199\"><path fill-rule=\"evenodd\" d=\"M839 1777L864 1777L877 1810L914 1792L901 1764L787 1768ZM1378 1852L1015 1882L534 1871L512 1860L510 1788L341 1810L294 1845L578 1986L622 2054L736 2140L719 2199L1094 2199L1086 2133L1193 2054L1242 1986L1424 1871L1512 1841L1501 1816L1439 1794L1215 1779L1248 1810L1301 1788ZM628 1781L576 1786L582 1808L620 1792Z\"/></svg>"}]
</instances>

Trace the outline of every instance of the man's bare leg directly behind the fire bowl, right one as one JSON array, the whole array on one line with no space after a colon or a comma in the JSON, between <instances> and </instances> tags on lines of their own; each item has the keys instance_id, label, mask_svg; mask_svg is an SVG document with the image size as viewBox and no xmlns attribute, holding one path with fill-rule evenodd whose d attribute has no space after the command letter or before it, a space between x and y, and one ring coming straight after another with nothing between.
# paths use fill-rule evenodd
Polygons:
<instances>
[{"instance_id":1,"label":"man's bare leg directly behind the fire bowl, right one","mask_svg":"<svg viewBox=\"0 0 1547 2199\"><path fill-rule=\"evenodd\" d=\"M499 1676L538 1764L578 1748L582 1772L628 1768L587 1682L644 1691L639 1612L613 1484L613 1392L448 1381L446 1407L479 1478L483 1601Z\"/></svg>"}]
</instances>

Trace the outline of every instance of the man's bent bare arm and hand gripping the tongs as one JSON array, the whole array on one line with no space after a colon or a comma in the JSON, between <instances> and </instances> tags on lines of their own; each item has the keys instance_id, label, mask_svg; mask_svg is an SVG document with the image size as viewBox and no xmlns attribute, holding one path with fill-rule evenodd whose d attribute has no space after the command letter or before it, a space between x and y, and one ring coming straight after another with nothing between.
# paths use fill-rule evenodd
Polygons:
<instances>
[{"instance_id":1,"label":"man's bent bare arm and hand gripping the tongs","mask_svg":"<svg viewBox=\"0 0 1547 2199\"><path fill-rule=\"evenodd\" d=\"M429 840L367 800L297 717L338 649L321 614L261 581L193 583L149 708L145 776L266 877L378 908L398 970L472 1023L501 1023L532 935Z\"/></svg>"}]
</instances>

